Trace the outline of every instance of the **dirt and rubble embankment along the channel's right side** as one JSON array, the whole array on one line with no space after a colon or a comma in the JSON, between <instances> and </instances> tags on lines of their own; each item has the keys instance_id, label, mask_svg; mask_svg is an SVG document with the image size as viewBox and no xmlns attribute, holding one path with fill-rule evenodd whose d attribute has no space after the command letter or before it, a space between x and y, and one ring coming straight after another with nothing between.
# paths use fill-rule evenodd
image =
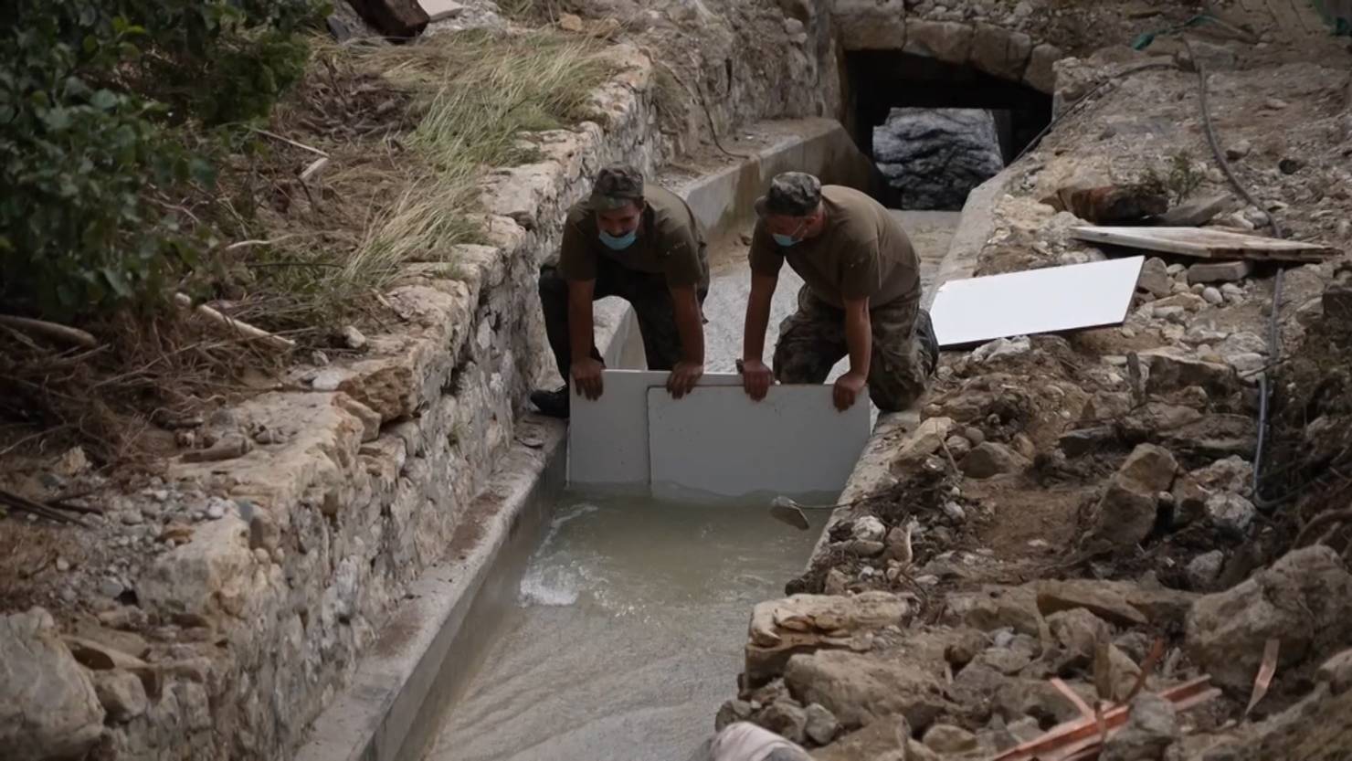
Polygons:
<instances>
[{"instance_id":1,"label":"dirt and rubble embankment along the channel's right side","mask_svg":"<svg viewBox=\"0 0 1352 761\"><path fill-rule=\"evenodd\" d=\"M1057 204L1076 188L1215 199L1191 223L1264 234L1272 215L1291 238L1352 246L1352 57L1240 11L1226 18L1256 34L1059 66L1059 103L1092 96L1006 176L977 274L1133 254L1068 234L1086 220ZM1211 155L1194 57L1259 207ZM1129 703L1087 757L1349 757L1352 731L1329 720L1352 658L1345 261L1286 266L1278 346L1275 265L1165 255L1122 326L946 351L919 424L882 443L882 491L833 523L791 597L757 606L719 723L822 760L991 758ZM1218 689L1203 703L1171 692L1203 677Z\"/></svg>"}]
</instances>

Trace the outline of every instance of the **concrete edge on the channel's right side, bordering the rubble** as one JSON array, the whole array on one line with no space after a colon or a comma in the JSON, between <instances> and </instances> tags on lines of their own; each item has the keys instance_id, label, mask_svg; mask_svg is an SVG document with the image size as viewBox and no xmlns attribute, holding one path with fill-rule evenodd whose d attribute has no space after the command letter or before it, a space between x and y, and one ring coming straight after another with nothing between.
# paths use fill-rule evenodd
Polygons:
<instances>
[{"instance_id":1,"label":"concrete edge on the channel's right side, bordering the rubble","mask_svg":"<svg viewBox=\"0 0 1352 761\"><path fill-rule=\"evenodd\" d=\"M963 204L963 216L957 220L957 230L953 232L948 251L945 251L944 260L940 262L938 272L934 273L934 284L922 296L925 308L933 305L934 296L945 283L972 277L972 273L976 272L982 249L995 232L995 203L1005 192L1013 176L1013 168L1007 166L968 193L967 201ZM873 433L868 437L859 461L854 462L854 470L850 473L849 480L845 481L840 501L845 503L868 496L894 483L890 468L891 462L888 460L888 445L903 435L907 426L914 426L918 422L917 418L918 415L914 411L877 416ZM853 516L853 510L841 510L830 515L821 537L817 538L817 545L813 546L813 554L807 558L806 569L811 569L821 553L825 551L831 527Z\"/></svg>"}]
</instances>

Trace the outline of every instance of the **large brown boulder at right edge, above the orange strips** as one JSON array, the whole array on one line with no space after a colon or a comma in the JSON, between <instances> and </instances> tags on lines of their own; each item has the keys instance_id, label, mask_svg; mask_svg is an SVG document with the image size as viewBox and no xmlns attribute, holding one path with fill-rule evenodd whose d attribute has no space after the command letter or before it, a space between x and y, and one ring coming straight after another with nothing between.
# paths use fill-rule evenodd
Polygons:
<instances>
[{"instance_id":1,"label":"large brown boulder at right edge, above the orange strips","mask_svg":"<svg viewBox=\"0 0 1352 761\"><path fill-rule=\"evenodd\" d=\"M1352 574L1332 549L1288 553L1241 584L1206 595L1187 616L1188 656L1217 685L1247 695L1268 639L1279 669L1321 661L1352 641Z\"/></svg>"}]
</instances>

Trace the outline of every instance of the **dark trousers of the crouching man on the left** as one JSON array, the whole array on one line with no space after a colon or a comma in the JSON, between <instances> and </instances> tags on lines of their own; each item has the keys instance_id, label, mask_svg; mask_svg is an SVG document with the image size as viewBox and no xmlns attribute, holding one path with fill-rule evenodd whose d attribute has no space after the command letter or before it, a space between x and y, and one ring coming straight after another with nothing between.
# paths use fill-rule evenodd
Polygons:
<instances>
[{"instance_id":1,"label":"dark trousers of the crouching man on the left","mask_svg":"<svg viewBox=\"0 0 1352 761\"><path fill-rule=\"evenodd\" d=\"M699 303L704 303L708 288L696 289ZM596 287L592 300L619 296L629 301L638 319L638 333L644 338L644 354L649 370L671 370L681 358L680 330L676 327L676 305L661 274L638 272L621 266L604 257L596 265ZM539 305L545 312L545 334L554 353L558 374L568 383L572 368L572 346L568 339L568 281L554 265L539 268ZM591 354L600 360L592 346Z\"/></svg>"}]
</instances>

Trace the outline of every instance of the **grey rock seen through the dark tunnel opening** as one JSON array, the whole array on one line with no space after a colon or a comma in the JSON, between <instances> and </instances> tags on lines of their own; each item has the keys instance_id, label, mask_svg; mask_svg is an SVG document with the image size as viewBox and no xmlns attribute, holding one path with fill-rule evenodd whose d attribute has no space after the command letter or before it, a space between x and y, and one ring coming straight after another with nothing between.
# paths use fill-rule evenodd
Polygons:
<instances>
[{"instance_id":1,"label":"grey rock seen through the dark tunnel opening","mask_svg":"<svg viewBox=\"0 0 1352 761\"><path fill-rule=\"evenodd\" d=\"M961 208L1005 168L995 118L980 108L894 108L873 157L906 208Z\"/></svg>"}]
</instances>

